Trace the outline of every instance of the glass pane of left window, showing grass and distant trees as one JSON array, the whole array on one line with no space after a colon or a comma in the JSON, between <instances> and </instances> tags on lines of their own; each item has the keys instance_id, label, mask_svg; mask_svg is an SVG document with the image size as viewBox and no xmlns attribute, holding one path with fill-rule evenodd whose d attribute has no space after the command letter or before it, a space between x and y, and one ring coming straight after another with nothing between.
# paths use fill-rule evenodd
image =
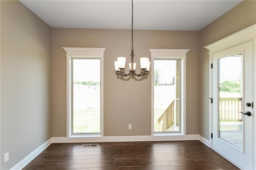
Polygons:
<instances>
[{"instance_id":1,"label":"glass pane of left window, showing grass and distant trees","mask_svg":"<svg viewBox=\"0 0 256 170\"><path fill-rule=\"evenodd\" d=\"M100 59L73 59L72 66L72 134L100 133Z\"/></svg>"}]
</instances>

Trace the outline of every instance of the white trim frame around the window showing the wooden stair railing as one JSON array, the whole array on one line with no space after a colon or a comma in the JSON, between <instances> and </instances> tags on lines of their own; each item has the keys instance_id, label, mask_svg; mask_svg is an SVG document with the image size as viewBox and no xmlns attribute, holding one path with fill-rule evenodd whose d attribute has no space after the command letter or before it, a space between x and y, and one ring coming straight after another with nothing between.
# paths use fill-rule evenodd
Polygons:
<instances>
[{"instance_id":1,"label":"white trim frame around the window showing the wooden stair railing","mask_svg":"<svg viewBox=\"0 0 256 170\"><path fill-rule=\"evenodd\" d=\"M181 127L178 133L154 134L154 86L151 85L151 135L177 135L186 134L186 53L190 49L149 49L151 52L151 70L154 71L154 59L181 59ZM154 73L151 74L151 84L154 83Z\"/></svg>"}]
</instances>

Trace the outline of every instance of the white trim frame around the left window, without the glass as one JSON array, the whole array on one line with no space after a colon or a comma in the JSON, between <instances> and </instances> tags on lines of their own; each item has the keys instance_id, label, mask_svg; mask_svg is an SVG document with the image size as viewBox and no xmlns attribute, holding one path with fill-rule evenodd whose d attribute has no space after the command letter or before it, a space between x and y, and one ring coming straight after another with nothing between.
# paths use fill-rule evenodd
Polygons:
<instances>
[{"instance_id":1,"label":"white trim frame around the left window, without the glass","mask_svg":"<svg viewBox=\"0 0 256 170\"><path fill-rule=\"evenodd\" d=\"M106 48L77 48L77 47L62 47L66 51L67 56L67 137L78 137L78 136L104 136L103 134L103 57ZM100 134L97 135L72 135L71 133L71 105L72 105L72 91L71 91L71 59L72 58L100 58Z\"/></svg>"}]
</instances>

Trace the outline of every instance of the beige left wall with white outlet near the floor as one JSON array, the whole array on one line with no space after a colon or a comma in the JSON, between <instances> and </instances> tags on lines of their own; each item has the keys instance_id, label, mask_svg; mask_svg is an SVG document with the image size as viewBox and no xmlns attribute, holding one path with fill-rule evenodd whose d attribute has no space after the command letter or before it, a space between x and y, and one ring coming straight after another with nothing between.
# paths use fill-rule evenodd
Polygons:
<instances>
[{"instance_id":1,"label":"beige left wall with white outlet near the floor","mask_svg":"<svg viewBox=\"0 0 256 170\"><path fill-rule=\"evenodd\" d=\"M2 170L51 137L50 55L51 28L19 1L1 1Z\"/></svg>"}]
</instances>

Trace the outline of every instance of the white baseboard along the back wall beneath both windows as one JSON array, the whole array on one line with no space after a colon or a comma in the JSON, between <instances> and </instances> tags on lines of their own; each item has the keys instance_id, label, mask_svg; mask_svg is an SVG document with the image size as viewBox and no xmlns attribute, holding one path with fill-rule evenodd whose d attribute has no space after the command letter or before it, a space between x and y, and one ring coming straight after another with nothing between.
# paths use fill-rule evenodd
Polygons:
<instances>
[{"instance_id":1,"label":"white baseboard along the back wall beneath both windows","mask_svg":"<svg viewBox=\"0 0 256 170\"><path fill-rule=\"evenodd\" d=\"M198 134L156 136L52 137L52 143L199 140Z\"/></svg>"}]
</instances>

